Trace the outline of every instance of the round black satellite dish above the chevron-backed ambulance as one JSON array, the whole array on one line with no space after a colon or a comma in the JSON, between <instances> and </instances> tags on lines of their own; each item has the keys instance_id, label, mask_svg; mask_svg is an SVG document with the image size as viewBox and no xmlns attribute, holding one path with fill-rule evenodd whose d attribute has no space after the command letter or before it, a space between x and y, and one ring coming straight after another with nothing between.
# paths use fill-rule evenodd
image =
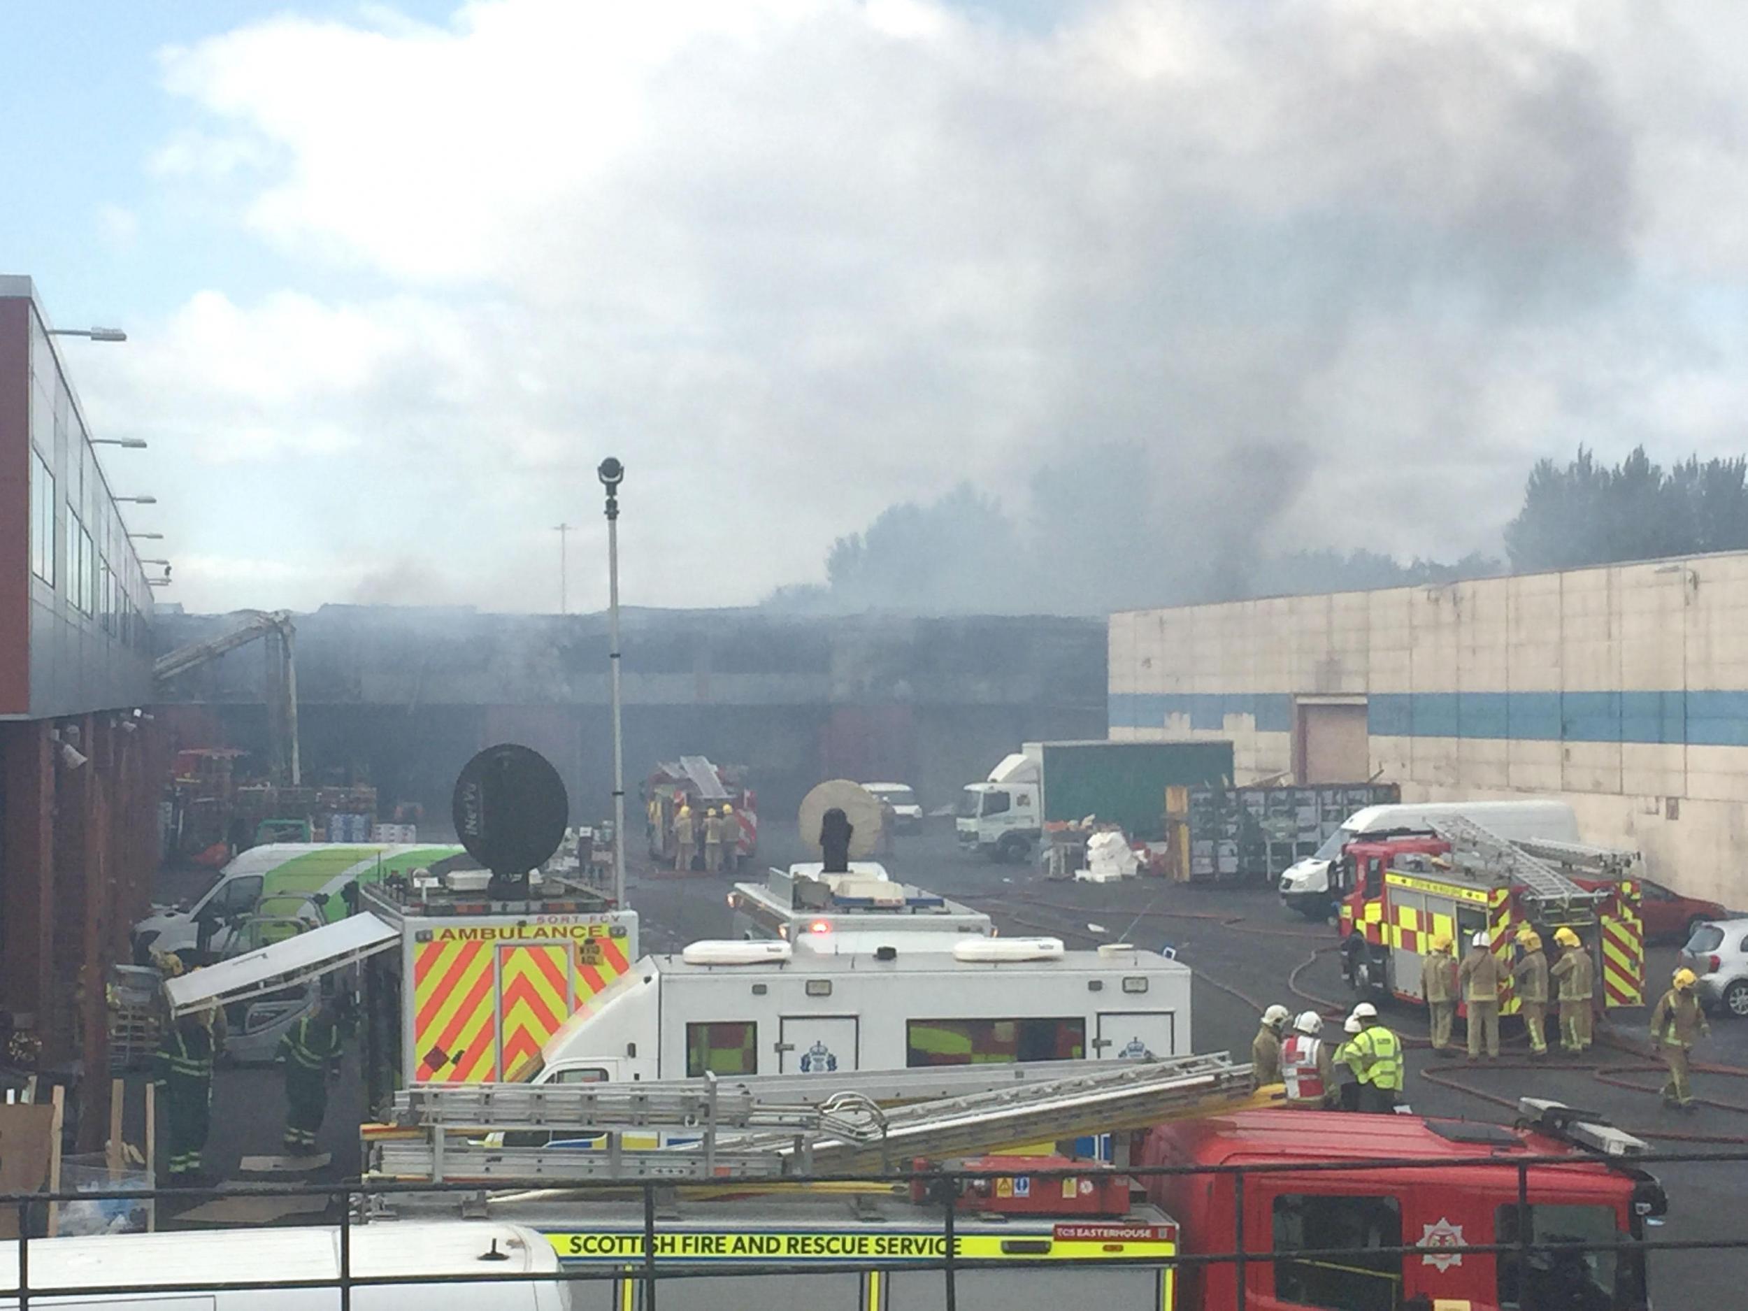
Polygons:
<instances>
[{"instance_id":1,"label":"round black satellite dish above the chevron-backed ambulance","mask_svg":"<svg viewBox=\"0 0 1748 1311\"><path fill-rule=\"evenodd\" d=\"M570 797L540 752L516 743L488 746L454 781L454 832L500 879L523 879L565 841Z\"/></svg>"}]
</instances>

